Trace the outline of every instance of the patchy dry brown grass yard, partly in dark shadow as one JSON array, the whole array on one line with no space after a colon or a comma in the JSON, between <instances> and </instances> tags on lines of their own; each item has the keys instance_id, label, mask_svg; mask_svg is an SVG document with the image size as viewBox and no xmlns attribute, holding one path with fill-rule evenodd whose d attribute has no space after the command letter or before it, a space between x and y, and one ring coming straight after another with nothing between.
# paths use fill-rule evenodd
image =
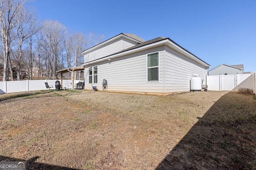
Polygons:
<instances>
[{"instance_id":1,"label":"patchy dry brown grass yard, partly in dark shadow","mask_svg":"<svg viewBox=\"0 0 256 170\"><path fill-rule=\"evenodd\" d=\"M34 91L0 110L0 160L28 169L256 169L248 93Z\"/></svg>"}]
</instances>

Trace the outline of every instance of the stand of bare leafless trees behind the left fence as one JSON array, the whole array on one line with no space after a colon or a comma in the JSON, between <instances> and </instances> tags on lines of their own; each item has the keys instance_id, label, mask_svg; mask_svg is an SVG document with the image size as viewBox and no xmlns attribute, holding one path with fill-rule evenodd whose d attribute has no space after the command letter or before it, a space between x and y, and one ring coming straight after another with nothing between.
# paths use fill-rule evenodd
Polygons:
<instances>
[{"instance_id":1,"label":"stand of bare leafless trees behind the left fence","mask_svg":"<svg viewBox=\"0 0 256 170\"><path fill-rule=\"evenodd\" d=\"M29 78L32 79L35 59L37 59L38 75L44 68L48 72L49 79L57 78L56 70L64 66L79 66L83 61L81 53L86 46L97 45L105 37L89 33L85 39L81 32L67 34L66 27L60 22L46 20L42 23L42 31L38 34L40 36L38 36L36 45L33 45L32 36L38 30L38 23L36 23L32 8L26 8L26 2L28 0L0 0L3 81L7 80L8 68L12 80L14 79L12 69L15 66L17 67L17 80L20 80L20 73L25 65L29 70ZM65 35L68 35L66 39L64 39Z\"/></svg>"}]
</instances>

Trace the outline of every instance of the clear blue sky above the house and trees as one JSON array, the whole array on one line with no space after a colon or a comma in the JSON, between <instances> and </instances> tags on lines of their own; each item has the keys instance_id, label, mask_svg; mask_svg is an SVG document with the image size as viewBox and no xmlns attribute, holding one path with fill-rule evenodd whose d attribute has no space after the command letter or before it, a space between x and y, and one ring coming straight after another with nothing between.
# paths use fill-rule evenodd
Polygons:
<instances>
[{"instance_id":1,"label":"clear blue sky above the house and trees","mask_svg":"<svg viewBox=\"0 0 256 170\"><path fill-rule=\"evenodd\" d=\"M212 68L256 71L256 0L34 0L39 20L84 35L169 37ZM209 69L209 70L210 70Z\"/></svg>"}]
</instances>

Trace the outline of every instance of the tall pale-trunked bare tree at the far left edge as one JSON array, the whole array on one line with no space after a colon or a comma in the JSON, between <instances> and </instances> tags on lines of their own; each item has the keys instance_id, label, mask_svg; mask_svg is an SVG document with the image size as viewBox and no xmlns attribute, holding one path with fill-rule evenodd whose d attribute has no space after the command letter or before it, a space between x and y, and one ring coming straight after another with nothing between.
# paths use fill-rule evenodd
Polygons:
<instances>
[{"instance_id":1,"label":"tall pale-trunked bare tree at the far left edge","mask_svg":"<svg viewBox=\"0 0 256 170\"><path fill-rule=\"evenodd\" d=\"M7 80L10 46L13 41L12 31L17 25L15 16L23 9L26 2L27 0L0 0L0 32L4 49L3 81Z\"/></svg>"}]
</instances>

